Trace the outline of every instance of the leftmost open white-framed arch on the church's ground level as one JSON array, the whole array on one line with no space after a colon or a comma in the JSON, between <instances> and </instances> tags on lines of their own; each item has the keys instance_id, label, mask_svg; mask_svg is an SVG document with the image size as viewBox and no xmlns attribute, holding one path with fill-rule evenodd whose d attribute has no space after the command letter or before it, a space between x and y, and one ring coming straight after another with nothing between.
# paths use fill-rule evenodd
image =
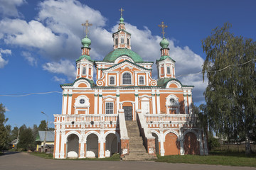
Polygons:
<instances>
[{"instance_id":1,"label":"leftmost open white-framed arch on the church's ground level","mask_svg":"<svg viewBox=\"0 0 256 170\"><path fill-rule=\"evenodd\" d=\"M78 149L79 149L79 137L78 135L71 134L68 135L67 138L67 153L68 153L68 158L78 158Z\"/></svg>"}]
</instances>

